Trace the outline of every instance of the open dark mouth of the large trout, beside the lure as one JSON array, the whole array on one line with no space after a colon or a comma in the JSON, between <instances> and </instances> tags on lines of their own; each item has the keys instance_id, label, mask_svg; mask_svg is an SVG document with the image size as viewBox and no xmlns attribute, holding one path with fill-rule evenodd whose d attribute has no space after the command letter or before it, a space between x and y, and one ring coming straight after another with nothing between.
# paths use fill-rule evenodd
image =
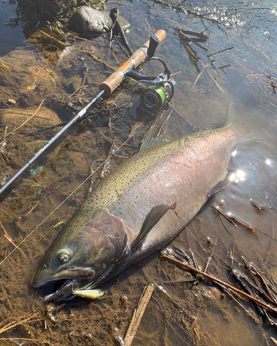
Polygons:
<instances>
[{"instance_id":1,"label":"open dark mouth of the large trout, beside the lure","mask_svg":"<svg viewBox=\"0 0 277 346\"><path fill-rule=\"evenodd\" d=\"M72 293L73 284L76 280L74 279L64 279L56 280L53 286L53 292L45 295L44 302L64 302L64 300L69 300L75 297Z\"/></svg>"}]
</instances>

